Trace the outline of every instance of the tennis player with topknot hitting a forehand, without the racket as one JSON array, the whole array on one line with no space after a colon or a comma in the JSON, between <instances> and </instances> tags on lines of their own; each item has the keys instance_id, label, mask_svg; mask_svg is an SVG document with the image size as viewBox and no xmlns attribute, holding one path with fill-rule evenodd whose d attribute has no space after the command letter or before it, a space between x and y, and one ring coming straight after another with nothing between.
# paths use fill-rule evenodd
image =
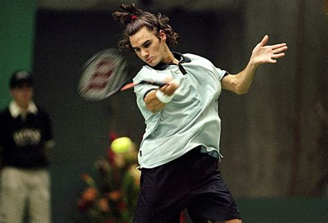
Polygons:
<instances>
[{"instance_id":1,"label":"tennis player with topknot hitting a forehand, without the racket","mask_svg":"<svg viewBox=\"0 0 328 223\"><path fill-rule=\"evenodd\" d=\"M286 44L255 46L246 68L235 75L206 58L172 53L178 35L168 18L122 5L113 18L125 25L121 48L131 48L145 62L134 82L164 81L134 88L147 125L140 143L141 188L134 222L179 222L188 209L194 222L242 222L217 170L221 133L217 99L221 89L246 93L260 64L283 57Z\"/></svg>"}]
</instances>

